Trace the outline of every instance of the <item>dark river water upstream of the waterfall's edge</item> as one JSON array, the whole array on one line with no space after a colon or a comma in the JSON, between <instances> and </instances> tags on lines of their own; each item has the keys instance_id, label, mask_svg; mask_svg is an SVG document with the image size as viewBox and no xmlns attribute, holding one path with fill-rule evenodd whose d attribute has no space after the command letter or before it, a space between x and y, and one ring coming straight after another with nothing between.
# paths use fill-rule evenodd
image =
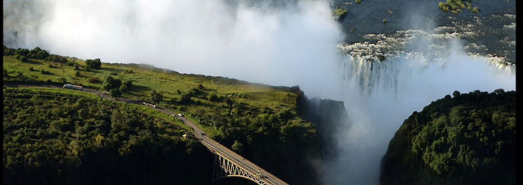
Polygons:
<instances>
[{"instance_id":1,"label":"dark river water upstream of the waterfall's edge","mask_svg":"<svg viewBox=\"0 0 523 185\"><path fill-rule=\"evenodd\" d=\"M516 64L516 2L474 0L472 7L480 13L464 9L461 13L445 12L439 1L334 1L333 6L347 8L341 21L347 37L345 42L375 43L367 34L393 37L400 30L424 30L441 34L458 34L471 54L504 58L502 62ZM442 1L444 2L444 1ZM466 8L466 7L465 7ZM383 24L383 19L387 23Z\"/></svg>"}]
</instances>

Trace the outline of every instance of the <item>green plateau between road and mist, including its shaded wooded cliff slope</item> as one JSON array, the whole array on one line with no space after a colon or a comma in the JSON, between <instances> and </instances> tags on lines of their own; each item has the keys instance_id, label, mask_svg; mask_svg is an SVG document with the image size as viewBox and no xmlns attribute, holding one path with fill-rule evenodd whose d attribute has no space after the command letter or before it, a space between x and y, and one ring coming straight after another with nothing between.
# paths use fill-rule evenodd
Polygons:
<instances>
[{"instance_id":1,"label":"green plateau between road and mist, including its shaded wooded cliff slope","mask_svg":"<svg viewBox=\"0 0 523 185\"><path fill-rule=\"evenodd\" d=\"M49 54L40 48L12 49L5 45L3 83L74 84L108 91L116 98L154 103L162 109L183 113L211 138L287 183L319 183L320 178L311 163L321 158L319 138L315 125L298 114L303 96L299 87L274 87L225 77L179 74L145 64L81 60ZM69 113L63 116L69 116ZM75 115L70 116L77 119ZM110 124L109 120L99 122ZM7 124L11 124L9 122L12 121L7 120ZM85 125L83 119L81 122ZM93 125L96 124L89 123L89 128Z\"/></svg>"}]
</instances>

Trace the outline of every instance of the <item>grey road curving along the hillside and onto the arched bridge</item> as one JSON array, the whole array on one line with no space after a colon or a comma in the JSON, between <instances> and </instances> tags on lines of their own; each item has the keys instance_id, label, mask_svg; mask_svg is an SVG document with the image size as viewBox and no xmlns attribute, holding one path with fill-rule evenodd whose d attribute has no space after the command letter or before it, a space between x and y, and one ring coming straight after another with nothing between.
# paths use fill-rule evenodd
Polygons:
<instances>
[{"instance_id":1,"label":"grey road curving along the hillside and onto the arched bridge","mask_svg":"<svg viewBox=\"0 0 523 185\"><path fill-rule=\"evenodd\" d=\"M6 85L10 86L10 87L16 87L16 86L26 86L27 87L27 86L32 86L32 87L63 88L61 86L54 86L54 85L16 85L16 84L6 84ZM100 96L101 98L104 98L104 99L109 99L109 100L113 100L113 101L120 101L120 102L124 102L124 103L133 103L133 104L137 104L137 105L142 105L140 101L131 100L131 99L126 98L126 97L112 98L108 94L104 93L103 91L99 91L99 90L96 90L96 89L84 88L83 91L92 92L92 93L94 93L94 94L96 94L96 95L98 95L98 96ZM142 105L142 106L145 106L145 105ZM282 180L278 179L276 176L274 176L274 175L270 174L269 172L265 171L264 169L258 167L254 163L251 163L251 161L249 161L249 160L245 159L244 157L242 157L242 156L236 154L235 152L231 151L229 148L224 147L220 143L212 140L211 138L209 138L208 134L206 134L197 124L195 124L194 122L190 121L189 119L187 119L187 118L185 118L183 116L179 116L178 114L176 114L174 112L171 112L169 110L166 110L166 109L153 108L153 107L150 107L150 108L151 109L156 109L158 111L162 111L164 113L167 113L169 115L172 115L172 116L178 118L179 120L184 122L185 125L190 126L190 128L194 129L194 133L193 133L194 136L196 138L198 138L200 143L202 143L204 146L209 148L211 151L219 153L220 155L224 156L225 158L228 158L229 160L233 161L233 163L235 163L236 165L238 165L238 166L244 168L245 170L251 172L252 174L255 174L255 175L259 174L259 177L261 177L263 181L265 181L265 182L267 182L269 184L287 184L287 183L283 182Z\"/></svg>"}]
</instances>

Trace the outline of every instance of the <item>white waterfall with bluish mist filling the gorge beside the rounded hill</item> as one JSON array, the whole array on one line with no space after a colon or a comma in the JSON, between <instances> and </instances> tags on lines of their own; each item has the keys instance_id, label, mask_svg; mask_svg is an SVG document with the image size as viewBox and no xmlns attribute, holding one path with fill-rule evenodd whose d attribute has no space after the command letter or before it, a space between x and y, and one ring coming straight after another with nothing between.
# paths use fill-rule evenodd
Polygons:
<instances>
[{"instance_id":1,"label":"white waterfall with bluish mist filling the gorge beside the rounded hill","mask_svg":"<svg viewBox=\"0 0 523 185\"><path fill-rule=\"evenodd\" d=\"M515 90L514 66L470 56L453 39L408 52L377 55L361 54L361 48L367 45L372 51L380 51L380 47L390 45L360 44L359 50L354 45L342 47L348 54L339 63L351 125L333 133L338 158L324 164L325 184L378 184L380 160L394 133L413 111L423 110L431 101L455 90ZM413 43L406 41L407 45ZM376 56L380 54L386 59L379 61Z\"/></svg>"}]
</instances>

